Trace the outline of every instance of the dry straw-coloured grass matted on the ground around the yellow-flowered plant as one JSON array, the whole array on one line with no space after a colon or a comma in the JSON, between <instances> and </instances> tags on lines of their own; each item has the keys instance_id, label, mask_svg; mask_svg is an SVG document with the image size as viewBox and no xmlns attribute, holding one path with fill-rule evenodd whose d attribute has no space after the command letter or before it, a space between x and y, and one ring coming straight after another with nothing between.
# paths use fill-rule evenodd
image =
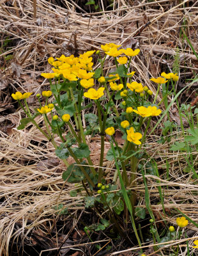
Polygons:
<instances>
[{"instance_id":1,"label":"dry straw-coloured grass matted on the ground around the yellow-flowered plant","mask_svg":"<svg viewBox=\"0 0 198 256\"><path fill-rule=\"evenodd\" d=\"M83 204L80 205L83 195L77 195L75 198L70 196L70 191L76 187L73 188L63 182L61 173L65 166L57 160L52 145L34 127L29 126L23 131L17 131L16 127L23 114L20 109L15 109L16 105L10 97L11 92L20 90L33 92L36 95L47 88L49 83L43 81L40 74L45 70L49 72L47 64L49 56L100 49L100 44L107 42L141 49L141 55L132 63L133 70L136 71L135 79L148 85L154 92L156 88L149 81L150 76L156 77L160 72L167 70L167 67L172 68L173 56L177 52L176 48L179 47L179 76L183 79L178 84L178 88L185 86L182 81L194 77L198 68L192 50L183 38L179 38L179 32L185 19L186 33L197 51L198 12L197 1L183 2L185 7L176 0L154 3L144 0L141 4L123 0L114 4L113 11L90 15L90 13L77 13L78 6L75 1L65 0L63 2L65 8L45 0L34 1L36 8L33 8L33 1L29 0L0 1L1 45L6 36L12 40L10 49L0 54L0 111L3 114L0 117L0 255L8 256L8 248L12 243L22 241L20 242L22 244L35 245L39 244L39 239L49 235L50 241L40 241L42 248L54 250L53 248L61 244L63 247L68 247L65 241L72 230L79 232L77 227L79 212L81 214L84 212ZM8 54L13 55L11 61L5 60ZM107 72L112 68L110 59L106 61L105 68ZM160 99L159 95L157 100ZM29 102L32 108L36 107L34 100L35 98L32 97ZM176 114L172 115L177 118ZM43 121L38 119L38 122L42 124ZM178 134L174 134L173 138L177 136ZM198 186L192 179L192 173L183 172L187 166L185 154L170 152L172 141L169 144L159 145L156 143L158 139L159 136L150 136L145 149L156 159L162 174L165 172L166 160L169 161L169 180L160 179L160 186L165 185L163 188L167 215L164 217L168 223L175 224L177 214L173 216L171 211L173 207L177 207L192 220L197 221ZM90 141L90 147L93 148L91 158L97 166L100 141ZM108 147L107 142L106 148ZM197 170L197 152L192 154L195 156L194 166ZM108 170L107 177L110 178L114 172L113 164L106 162L105 167ZM146 175L146 177L151 207L157 220L160 221L158 212L162 212L162 205L156 204L159 184L155 176ZM142 180L141 175L138 176L138 180ZM144 194L144 186L133 189L138 195ZM80 206L77 206L78 203ZM56 214L55 207L59 204L69 209L69 216ZM141 201L141 207L146 207L144 200ZM56 227L56 221L60 219L64 223L63 227L70 223L68 234L63 233L64 228ZM57 234L52 233L54 230ZM197 236L197 228L190 225L190 230L193 230L191 236ZM86 241L85 244L89 246ZM183 255L187 255L187 250Z\"/></svg>"}]
</instances>

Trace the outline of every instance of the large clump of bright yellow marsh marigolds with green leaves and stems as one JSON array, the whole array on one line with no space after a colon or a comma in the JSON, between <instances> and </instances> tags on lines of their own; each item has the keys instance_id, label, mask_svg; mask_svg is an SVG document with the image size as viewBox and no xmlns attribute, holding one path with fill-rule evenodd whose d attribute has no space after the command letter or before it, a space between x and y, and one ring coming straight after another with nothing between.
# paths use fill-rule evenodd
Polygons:
<instances>
[{"instance_id":1,"label":"large clump of bright yellow marsh marigolds with green leaves and stems","mask_svg":"<svg viewBox=\"0 0 198 256\"><path fill-rule=\"evenodd\" d=\"M101 45L103 52L96 52L100 67L95 71L93 71L94 63L91 57L95 51L84 52L77 58L73 55L68 57L62 55L56 60L50 57L48 62L52 65L53 72L42 73L43 77L49 79L50 90L43 91L42 95L36 95L40 107L34 112L29 109L26 101L32 93L16 92L11 96L19 102L26 114L26 118L20 120L18 129L24 129L28 124L33 124L42 132L54 146L57 157L65 163L66 170L63 172L63 180L74 184L82 183L82 188L87 194L84 196L85 206L95 209L100 215L105 212L103 219L108 223L113 223L117 232L123 237L125 234L117 217L121 213L128 216L129 212L135 236L141 246L141 239L135 223L137 199L135 193L127 188L137 186L137 172L141 170L146 188L146 207L151 218L155 220L149 206L145 173L139 165L139 161L144 154L142 145L146 141L151 118L162 113L159 106L169 95L167 87L165 87L163 100L156 104L160 87L164 88L165 84L171 82L174 88L178 76L163 72L162 76L164 77L151 78L151 81L158 84L155 98L151 100L153 92L147 86L133 81L135 71L130 70L132 58L139 54L140 50L118 49L119 47L121 45ZM114 58L116 72L105 75L103 66L107 55ZM99 88L96 90L93 86ZM54 99L52 99L52 95L54 95ZM24 104L22 104L22 100L24 100ZM117 100L119 108L116 106ZM96 114L91 113L93 106L96 108ZM86 124L82 125L84 111L86 112L84 115ZM35 118L38 115L43 116L45 130L36 123ZM146 127L144 131L142 130L143 125ZM170 127L172 124L167 123L164 128L164 136ZM123 134L122 138L125 140L123 146L118 145L114 138L116 129ZM90 157L91 150L86 140L88 134L100 136L99 166L94 166ZM57 143L56 136L59 137L61 143ZM106 158L109 161L113 160L116 166L112 182L109 183L105 180L103 170L105 136L108 136L110 142ZM68 163L69 156L73 157L73 164ZM152 168L151 164L149 168ZM116 183L121 186L119 191ZM76 196L77 193L79 193L78 190L71 191L71 196ZM82 189L80 189L80 195L82 195ZM56 210L62 211L62 207L59 207ZM145 210L136 211L136 216L139 218L145 218L145 214ZM97 230L108 227L104 220L96 227ZM156 230L155 223L152 225L152 230L154 228ZM158 232L155 236L159 241Z\"/></svg>"}]
</instances>

